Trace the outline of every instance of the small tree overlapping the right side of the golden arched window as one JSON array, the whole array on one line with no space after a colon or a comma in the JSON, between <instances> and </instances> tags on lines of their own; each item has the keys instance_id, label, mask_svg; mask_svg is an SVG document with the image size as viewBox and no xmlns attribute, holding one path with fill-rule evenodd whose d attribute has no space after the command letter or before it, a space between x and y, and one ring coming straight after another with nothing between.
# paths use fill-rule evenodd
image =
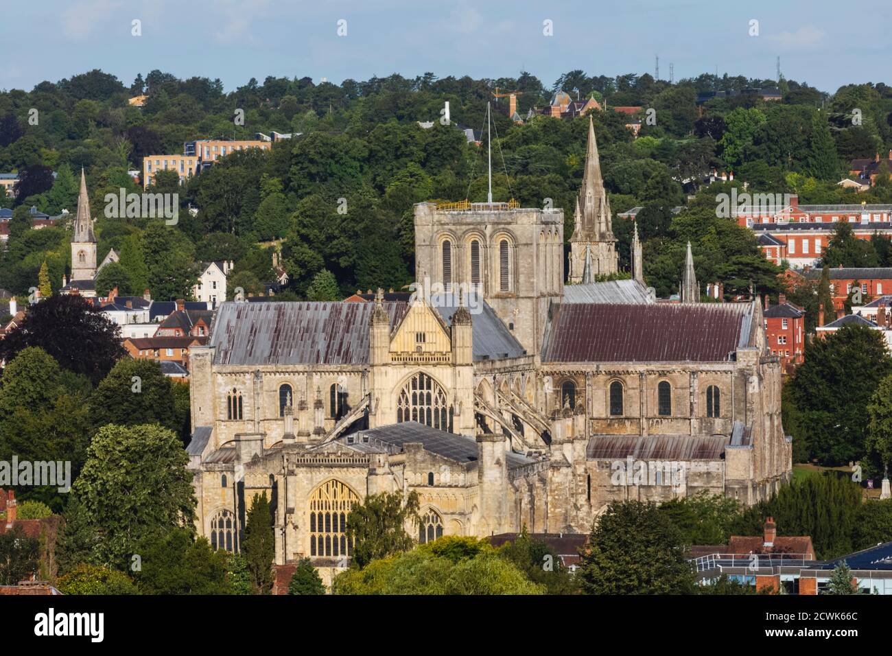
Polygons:
<instances>
[{"instance_id":1,"label":"small tree overlapping the right side of the golden arched window","mask_svg":"<svg viewBox=\"0 0 892 656\"><path fill-rule=\"evenodd\" d=\"M412 548L406 524L418 524L418 495L409 493L369 494L347 515L347 539L353 542L353 563L360 569L375 559L383 559Z\"/></svg>"}]
</instances>

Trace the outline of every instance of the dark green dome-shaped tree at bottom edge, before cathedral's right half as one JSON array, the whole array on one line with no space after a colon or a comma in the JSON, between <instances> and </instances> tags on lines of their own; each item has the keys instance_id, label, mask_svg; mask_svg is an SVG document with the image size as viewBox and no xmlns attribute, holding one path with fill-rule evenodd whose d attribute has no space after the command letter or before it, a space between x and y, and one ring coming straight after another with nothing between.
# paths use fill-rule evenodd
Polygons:
<instances>
[{"instance_id":1,"label":"dark green dome-shaped tree at bottom edge, before cathedral's right half","mask_svg":"<svg viewBox=\"0 0 892 656\"><path fill-rule=\"evenodd\" d=\"M577 576L587 594L688 594L681 533L653 503L612 502L591 531Z\"/></svg>"}]
</instances>

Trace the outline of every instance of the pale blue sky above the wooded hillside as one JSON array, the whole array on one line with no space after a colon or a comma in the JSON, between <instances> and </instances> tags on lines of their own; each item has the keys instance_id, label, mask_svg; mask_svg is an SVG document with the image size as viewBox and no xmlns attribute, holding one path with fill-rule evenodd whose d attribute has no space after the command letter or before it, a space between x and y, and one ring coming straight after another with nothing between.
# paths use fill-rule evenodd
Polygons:
<instances>
[{"instance_id":1,"label":"pale blue sky above the wooded hillside","mask_svg":"<svg viewBox=\"0 0 892 656\"><path fill-rule=\"evenodd\" d=\"M516 76L550 87L564 71L675 79L701 72L788 79L833 92L892 84L892 3L831 0L0 0L0 89L94 68L126 84L153 69L219 78ZM131 21L142 36L131 36ZM337 21L347 21L338 37ZM542 34L552 21L552 37ZM749 36L750 21L759 35Z\"/></svg>"}]
</instances>

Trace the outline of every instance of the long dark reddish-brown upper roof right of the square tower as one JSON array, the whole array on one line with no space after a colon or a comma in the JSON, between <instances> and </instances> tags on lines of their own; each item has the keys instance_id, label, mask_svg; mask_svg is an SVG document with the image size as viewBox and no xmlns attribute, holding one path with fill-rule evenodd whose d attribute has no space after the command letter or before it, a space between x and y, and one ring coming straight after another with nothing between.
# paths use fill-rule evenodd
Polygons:
<instances>
[{"instance_id":1,"label":"long dark reddish-brown upper roof right of the square tower","mask_svg":"<svg viewBox=\"0 0 892 656\"><path fill-rule=\"evenodd\" d=\"M728 361L752 317L753 303L552 303L542 361Z\"/></svg>"}]
</instances>

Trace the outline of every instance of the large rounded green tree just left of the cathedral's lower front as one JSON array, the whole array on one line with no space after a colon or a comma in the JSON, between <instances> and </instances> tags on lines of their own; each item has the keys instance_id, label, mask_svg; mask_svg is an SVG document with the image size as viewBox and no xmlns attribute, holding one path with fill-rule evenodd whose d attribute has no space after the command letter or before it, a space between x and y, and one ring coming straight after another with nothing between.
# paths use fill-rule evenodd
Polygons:
<instances>
[{"instance_id":1,"label":"large rounded green tree just left of the cathedral's lower front","mask_svg":"<svg viewBox=\"0 0 892 656\"><path fill-rule=\"evenodd\" d=\"M96 564L125 569L146 537L193 526L188 461L183 443L167 428L108 424L96 431L71 490L89 526L103 536L93 546Z\"/></svg>"}]
</instances>

